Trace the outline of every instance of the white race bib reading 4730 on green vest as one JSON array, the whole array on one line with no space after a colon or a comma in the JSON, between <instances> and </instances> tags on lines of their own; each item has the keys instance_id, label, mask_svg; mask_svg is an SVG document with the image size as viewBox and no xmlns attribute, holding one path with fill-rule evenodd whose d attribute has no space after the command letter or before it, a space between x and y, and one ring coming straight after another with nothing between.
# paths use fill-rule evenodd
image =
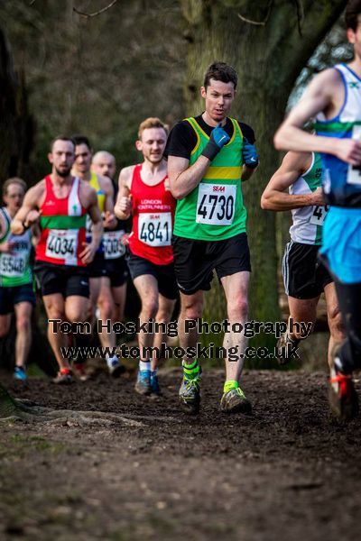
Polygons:
<instances>
[{"instance_id":1,"label":"white race bib reading 4730 on green vest","mask_svg":"<svg viewBox=\"0 0 361 541\"><path fill-rule=\"evenodd\" d=\"M231 225L235 216L236 186L199 184L198 224Z\"/></svg>"}]
</instances>

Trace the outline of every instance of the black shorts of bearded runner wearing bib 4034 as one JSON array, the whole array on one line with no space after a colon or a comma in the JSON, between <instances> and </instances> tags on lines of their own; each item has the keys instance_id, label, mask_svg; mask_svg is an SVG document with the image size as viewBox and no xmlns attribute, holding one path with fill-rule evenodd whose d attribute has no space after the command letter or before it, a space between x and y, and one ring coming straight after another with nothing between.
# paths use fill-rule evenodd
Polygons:
<instances>
[{"instance_id":1,"label":"black shorts of bearded runner wearing bib 4034","mask_svg":"<svg viewBox=\"0 0 361 541\"><path fill-rule=\"evenodd\" d=\"M70 295L89 298L87 267L54 265L45 261L35 261L34 272L42 296L60 293L64 298Z\"/></svg>"}]
</instances>

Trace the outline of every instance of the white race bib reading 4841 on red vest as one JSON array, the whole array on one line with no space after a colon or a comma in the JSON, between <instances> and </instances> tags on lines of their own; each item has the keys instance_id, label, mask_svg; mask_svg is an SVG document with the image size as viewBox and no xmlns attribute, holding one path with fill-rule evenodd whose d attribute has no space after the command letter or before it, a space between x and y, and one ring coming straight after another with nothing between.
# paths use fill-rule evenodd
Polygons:
<instances>
[{"instance_id":1,"label":"white race bib reading 4841 on red vest","mask_svg":"<svg viewBox=\"0 0 361 541\"><path fill-rule=\"evenodd\" d=\"M171 213L140 213L138 235L139 240L148 246L171 246Z\"/></svg>"}]
</instances>

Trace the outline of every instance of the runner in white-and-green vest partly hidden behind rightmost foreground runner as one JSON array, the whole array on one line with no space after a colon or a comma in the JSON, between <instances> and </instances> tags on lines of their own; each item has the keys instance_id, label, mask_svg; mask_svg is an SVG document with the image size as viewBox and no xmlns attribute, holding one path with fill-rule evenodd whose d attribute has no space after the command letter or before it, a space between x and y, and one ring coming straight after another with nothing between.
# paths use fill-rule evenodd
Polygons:
<instances>
[{"instance_id":1,"label":"runner in white-and-green vest partly hidden behind rightmost foreground runner","mask_svg":"<svg viewBox=\"0 0 361 541\"><path fill-rule=\"evenodd\" d=\"M290 361L288 353L306 336L295 323L316 322L316 310L322 291L325 292L329 320L329 366L335 345L344 338L335 284L329 271L318 261L322 228L329 206L322 196L322 164L316 152L287 152L264 189L261 206L265 210L292 210L291 241L287 243L282 275L288 296L292 327L278 341L281 364ZM285 190L289 189L289 193Z\"/></svg>"}]
</instances>

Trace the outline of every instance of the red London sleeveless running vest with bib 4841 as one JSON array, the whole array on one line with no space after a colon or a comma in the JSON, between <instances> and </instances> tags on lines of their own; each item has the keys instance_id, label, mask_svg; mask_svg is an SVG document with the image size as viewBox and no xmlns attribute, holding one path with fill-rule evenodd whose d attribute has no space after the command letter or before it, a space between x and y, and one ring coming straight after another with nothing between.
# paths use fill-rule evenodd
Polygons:
<instances>
[{"instance_id":1,"label":"red London sleeveless running vest with bib 4841","mask_svg":"<svg viewBox=\"0 0 361 541\"><path fill-rule=\"evenodd\" d=\"M171 231L176 201L165 188L167 176L156 186L144 184L142 164L134 167L131 194L133 196L133 229L129 236L132 253L155 265L173 261Z\"/></svg>"}]
</instances>

